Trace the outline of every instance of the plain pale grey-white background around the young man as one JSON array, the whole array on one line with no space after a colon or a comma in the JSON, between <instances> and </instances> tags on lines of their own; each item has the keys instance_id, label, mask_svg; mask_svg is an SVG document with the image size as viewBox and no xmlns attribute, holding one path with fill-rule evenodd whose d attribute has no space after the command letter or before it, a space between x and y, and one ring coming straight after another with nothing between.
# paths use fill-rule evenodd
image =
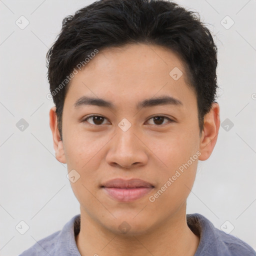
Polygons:
<instances>
[{"instance_id":1,"label":"plain pale grey-white background around the young man","mask_svg":"<svg viewBox=\"0 0 256 256\"><path fill-rule=\"evenodd\" d=\"M66 166L54 157L45 54L62 19L91 2L0 0L0 255L21 253L79 213ZM198 11L216 35L224 121L211 157L199 162L187 212L234 227L230 233L256 249L256 1L177 2ZM28 127L16 126L21 118ZM29 226L24 234L21 220Z\"/></svg>"}]
</instances>

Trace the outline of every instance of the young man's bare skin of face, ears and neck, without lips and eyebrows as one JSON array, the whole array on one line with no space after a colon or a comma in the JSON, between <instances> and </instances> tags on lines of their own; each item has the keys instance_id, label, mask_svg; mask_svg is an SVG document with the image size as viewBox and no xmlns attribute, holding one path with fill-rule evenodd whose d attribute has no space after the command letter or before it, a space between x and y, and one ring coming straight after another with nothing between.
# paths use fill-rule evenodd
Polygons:
<instances>
[{"instance_id":1,"label":"young man's bare skin of face, ears and neck, without lips and eyebrows","mask_svg":"<svg viewBox=\"0 0 256 256\"><path fill-rule=\"evenodd\" d=\"M169 72L178 67L174 80ZM138 101L169 95L180 105L136 109ZM81 96L111 101L115 109L74 103ZM105 118L93 122L88 115ZM187 84L182 62L158 45L128 44L100 50L71 80L63 106L62 140L55 107L50 128L58 161L75 169L80 178L71 184L80 203L81 226L76 244L84 255L194 255L199 243L186 223L186 198L197 162L206 160L216 143L219 106L212 103L199 135L196 95ZM156 122L152 116L166 116ZM131 126L123 131L118 123ZM149 201L169 177L196 152L200 155L158 196ZM142 198L119 202L100 185L112 178L140 178L153 184ZM122 233L126 221L130 229Z\"/></svg>"}]
</instances>

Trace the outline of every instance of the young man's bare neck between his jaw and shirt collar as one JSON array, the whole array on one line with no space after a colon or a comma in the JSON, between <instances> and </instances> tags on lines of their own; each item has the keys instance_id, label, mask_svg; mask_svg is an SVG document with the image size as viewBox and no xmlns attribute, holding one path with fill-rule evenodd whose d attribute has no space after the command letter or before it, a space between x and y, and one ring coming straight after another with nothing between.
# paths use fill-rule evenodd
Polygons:
<instances>
[{"instance_id":1,"label":"young man's bare neck between his jaw and shirt collar","mask_svg":"<svg viewBox=\"0 0 256 256\"><path fill-rule=\"evenodd\" d=\"M137 235L113 233L81 209L80 232L75 240L81 256L193 256L199 244L199 237L187 226L185 205L163 223Z\"/></svg>"}]
</instances>

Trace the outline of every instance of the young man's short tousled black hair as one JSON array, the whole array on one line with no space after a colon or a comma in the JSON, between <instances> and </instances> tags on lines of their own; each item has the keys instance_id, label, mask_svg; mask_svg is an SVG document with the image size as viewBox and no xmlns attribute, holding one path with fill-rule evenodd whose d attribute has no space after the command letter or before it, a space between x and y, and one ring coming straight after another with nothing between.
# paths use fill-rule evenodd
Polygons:
<instances>
[{"instance_id":1,"label":"young man's short tousled black hair","mask_svg":"<svg viewBox=\"0 0 256 256\"><path fill-rule=\"evenodd\" d=\"M69 74L95 52L129 43L164 46L178 54L196 93L201 134L216 97L217 47L199 14L168 0L97 0L63 19L46 54L60 136Z\"/></svg>"}]
</instances>

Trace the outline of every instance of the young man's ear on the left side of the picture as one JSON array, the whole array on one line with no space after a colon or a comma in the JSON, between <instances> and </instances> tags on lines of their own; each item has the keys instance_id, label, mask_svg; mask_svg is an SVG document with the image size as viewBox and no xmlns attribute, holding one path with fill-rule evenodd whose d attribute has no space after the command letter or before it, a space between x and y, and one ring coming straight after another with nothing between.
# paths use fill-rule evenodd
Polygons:
<instances>
[{"instance_id":1,"label":"young man's ear on the left side of the picture","mask_svg":"<svg viewBox=\"0 0 256 256\"><path fill-rule=\"evenodd\" d=\"M52 139L53 139L53 147L55 150L55 157L59 162L66 163L64 149L63 149L63 142L60 138L58 125L57 125L57 115L56 115L55 106L50 108L49 117L50 117L50 129L52 132Z\"/></svg>"}]
</instances>

